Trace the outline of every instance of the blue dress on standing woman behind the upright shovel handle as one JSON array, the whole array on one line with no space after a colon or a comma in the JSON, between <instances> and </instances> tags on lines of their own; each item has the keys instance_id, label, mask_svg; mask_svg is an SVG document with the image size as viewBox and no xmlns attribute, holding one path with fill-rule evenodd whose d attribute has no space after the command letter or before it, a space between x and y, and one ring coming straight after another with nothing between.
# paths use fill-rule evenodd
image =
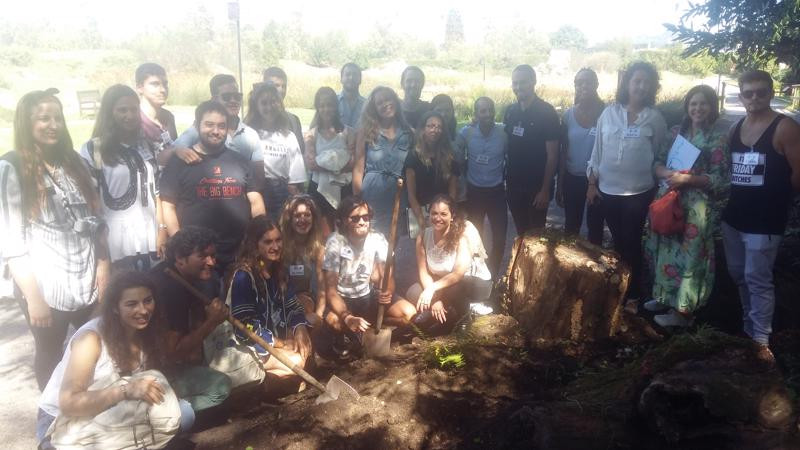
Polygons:
<instances>
[{"instance_id":1,"label":"blue dress on standing woman behind the upright shovel handle","mask_svg":"<svg viewBox=\"0 0 800 450\"><path fill-rule=\"evenodd\" d=\"M372 207L372 229L383 233L388 238L392 223L392 206L397 191L397 179L403 177L406 156L413 148L414 135L411 130L398 130L394 140L383 134L378 135L376 143L367 142L366 168L364 181L361 183L361 197ZM400 216L398 218L398 234L407 232L406 208L407 196L403 190L400 198Z\"/></svg>"}]
</instances>

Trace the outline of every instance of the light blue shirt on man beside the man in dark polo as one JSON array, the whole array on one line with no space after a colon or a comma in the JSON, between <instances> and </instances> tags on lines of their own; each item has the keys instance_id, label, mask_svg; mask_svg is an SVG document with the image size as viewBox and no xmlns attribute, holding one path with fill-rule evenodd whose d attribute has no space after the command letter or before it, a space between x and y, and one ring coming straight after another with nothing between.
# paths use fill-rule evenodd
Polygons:
<instances>
[{"instance_id":1,"label":"light blue shirt on man beside the man in dark polo","mask_svg":"<svg viewBox=\"0 0 800 450\"><path fill-rule=\"evenodd\" d=\"M456 148L467 162L467 182L477 187L503 183L508 137L503 125L495 124L484 136L477 124L467 125L456 136Z\"/></svg>"}]
</instances>

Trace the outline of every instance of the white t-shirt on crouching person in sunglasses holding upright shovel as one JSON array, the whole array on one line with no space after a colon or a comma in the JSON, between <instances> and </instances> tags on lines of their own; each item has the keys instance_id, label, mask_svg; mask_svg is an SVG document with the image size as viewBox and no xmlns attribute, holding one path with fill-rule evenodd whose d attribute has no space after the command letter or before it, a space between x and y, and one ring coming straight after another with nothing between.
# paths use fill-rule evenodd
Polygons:
<instances>
[{"instance_id":1,"label":"white t-shirt on crouching person in sunglasses holding upright shovel","mask_svg":"<svg viewBox=\"0 0 800 450\"><path fill-rule=\"evenodd\" d=\"M376 231L369 232L361 248L353 247L346 237L336 232L325 244L322 270L338 274L336 290L342 297L363 297L369 294L369 278L375 263L385 263L388 252L389 243Z\"/></svg>"}]
</instances>

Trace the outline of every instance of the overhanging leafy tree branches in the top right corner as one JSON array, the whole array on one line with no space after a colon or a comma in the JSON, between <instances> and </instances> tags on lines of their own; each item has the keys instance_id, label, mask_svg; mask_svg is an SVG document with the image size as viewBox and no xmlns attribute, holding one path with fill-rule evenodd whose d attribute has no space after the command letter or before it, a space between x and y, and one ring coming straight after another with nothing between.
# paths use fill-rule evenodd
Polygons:
<instances>
[{"instance_id":1,"label":"overhanging leafy tree branches in the top right corner","mask_svg":"<svg viewBox=\"0 0 800 450\"><path fill-rule=\"evenodd\" d=\"M687 55L725 55L739 69L782 62L800 79L800 0L705 0L664 26Z\"/></svg>"}]
</instances>

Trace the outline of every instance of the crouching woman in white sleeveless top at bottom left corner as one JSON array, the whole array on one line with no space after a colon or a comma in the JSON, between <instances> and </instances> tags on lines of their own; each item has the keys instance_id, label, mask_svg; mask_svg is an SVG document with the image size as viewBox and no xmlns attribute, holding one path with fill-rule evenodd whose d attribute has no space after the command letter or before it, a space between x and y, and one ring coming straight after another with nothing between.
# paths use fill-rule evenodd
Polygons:
<instances>
[{"instance_id":1,"label":"crouching woman in white sleeveless top at bottom left corner","mask_svg":"<svg viewBox=\"0 0 800 450\"><path fill-rule=\"evenodd\" d=\"M40 448L162 448L194 413L155 369L160 308L150 278L122 272L106 290L100 317L78 329L42 393Z\"/></svg>"}]
</instances>

